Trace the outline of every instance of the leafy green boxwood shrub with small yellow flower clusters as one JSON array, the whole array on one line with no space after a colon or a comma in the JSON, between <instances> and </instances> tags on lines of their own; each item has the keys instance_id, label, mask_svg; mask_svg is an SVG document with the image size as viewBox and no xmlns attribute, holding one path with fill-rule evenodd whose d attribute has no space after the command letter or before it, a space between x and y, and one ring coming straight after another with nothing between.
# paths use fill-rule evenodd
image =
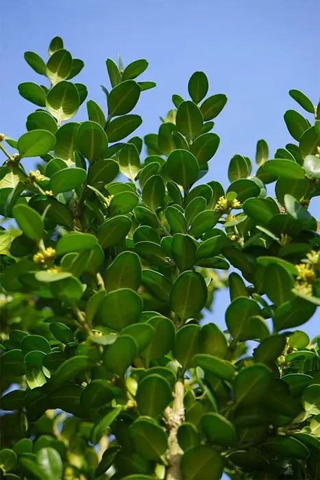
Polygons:
<instances>
[{"instance_id":1,"label":"leafy green boxwood shrub with small yellow flower clusters","mask_svg":"<svg viewBox=\"0 0 320 480\"><path fill-rule=\"evenodd\" d=\"M106 61L103 106L61 38L25 60L47 85L19 85L36 110L1 134L1 478L319 478L319 337L297 328L320 304L320 106L291 90L295 143L234 155L225 189L202 180L227 103L205 73L140 139L146 60Z\"/></svg>"}]
</instances>

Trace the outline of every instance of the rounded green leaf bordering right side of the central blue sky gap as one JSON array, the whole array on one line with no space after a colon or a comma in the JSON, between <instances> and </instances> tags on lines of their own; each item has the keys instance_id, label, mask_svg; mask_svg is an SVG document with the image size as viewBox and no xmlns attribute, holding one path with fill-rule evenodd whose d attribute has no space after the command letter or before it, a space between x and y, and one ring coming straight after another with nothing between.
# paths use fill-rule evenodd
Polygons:
<instances>
[{"instance_id":1,"label":"rounded green leaf bordering right side of the central blue sky gap","mask_svg":"<svg viewBox=\"0 0 320 480\"><path fill-rule=\"evenodd\" d=\"M233 300L225 312L225 323L232 337L237 341L267 337L269 330L260 313L257 302L251 298L238 297Z\"/></svg>"}]
</instances>

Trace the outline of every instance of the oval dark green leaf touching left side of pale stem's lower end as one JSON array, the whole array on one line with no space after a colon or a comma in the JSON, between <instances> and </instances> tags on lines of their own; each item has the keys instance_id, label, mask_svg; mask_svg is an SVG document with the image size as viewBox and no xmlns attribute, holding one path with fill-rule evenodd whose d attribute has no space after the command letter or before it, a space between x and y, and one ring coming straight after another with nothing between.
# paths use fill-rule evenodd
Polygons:
<instances>
[{"instance_id":1,"label":"oval dark green leaf touching left side of pale stem's lower end","mask_svg":"<svg viewBox=\"0 0 320 480\"><path fill-rule=\"evenodd\" d=\"M138 418L129 429L136 453L147 460L157 461L167 451L168 439L164 428L148 418Z\"/></svg>"}]
</instances>

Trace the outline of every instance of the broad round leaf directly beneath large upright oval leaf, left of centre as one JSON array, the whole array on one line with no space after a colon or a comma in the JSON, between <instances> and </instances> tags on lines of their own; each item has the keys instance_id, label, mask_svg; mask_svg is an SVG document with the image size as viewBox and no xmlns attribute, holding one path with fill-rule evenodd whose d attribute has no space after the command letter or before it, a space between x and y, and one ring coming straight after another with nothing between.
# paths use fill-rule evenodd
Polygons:
<instances>
[{"instance_id":1,"label":"broad round leaf directly beneath large upright oval leaf, left of centre","mask_svg":"<svg viewBox=\"0 0 320 480\"><path fill-rule=\"evenodd\" d=\"M99 319L103 325L119 331L138 322L143 311L143 302L136 291L121 288L110 291L103 298Z\"/></svg>"}]
</instances>

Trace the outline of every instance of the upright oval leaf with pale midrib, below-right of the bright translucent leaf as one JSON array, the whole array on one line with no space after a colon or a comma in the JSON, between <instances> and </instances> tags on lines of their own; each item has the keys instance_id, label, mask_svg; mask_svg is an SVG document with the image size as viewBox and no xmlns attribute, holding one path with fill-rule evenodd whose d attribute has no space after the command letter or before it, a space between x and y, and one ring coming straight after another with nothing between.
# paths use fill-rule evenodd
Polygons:
<instances>
[{"instance_id":1,"label":"upright oval leaf with pale midrib, below-right of the bright translucent leaf","mask_svg":"<svg viewBox=\"0 0 320 480\"><path fill-rule=\"evenodd\" d=\"M108 156L108 137L99 123L84 121L77 130L76 145L79 152L93 160L102 160Z\"/></svg>"}]
</instances>

